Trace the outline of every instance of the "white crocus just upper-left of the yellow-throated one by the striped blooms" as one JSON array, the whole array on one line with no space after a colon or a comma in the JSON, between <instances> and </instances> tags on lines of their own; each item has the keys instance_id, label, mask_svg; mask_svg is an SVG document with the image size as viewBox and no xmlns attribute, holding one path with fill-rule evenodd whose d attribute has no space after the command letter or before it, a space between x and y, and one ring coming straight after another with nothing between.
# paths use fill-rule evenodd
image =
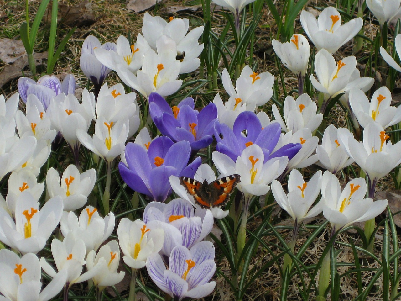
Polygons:
<instances>
[{"instance_id":1,"label":"white crocus just upper-left of the yellow-throated one by the striped blooms","mask_svg":"<svg viewBox=\"0 0 401 301\"><path fill-rule=\"evenodd\" d=\"M60 230L63 236L73 232L75 236L82 238L85 242L86 252L97 250L99 246L109 238L115 226L113 212L103 219L97 209L92 206L85 207L78 217L73 211L63 212Z\"/></svg>"}]
</instances>

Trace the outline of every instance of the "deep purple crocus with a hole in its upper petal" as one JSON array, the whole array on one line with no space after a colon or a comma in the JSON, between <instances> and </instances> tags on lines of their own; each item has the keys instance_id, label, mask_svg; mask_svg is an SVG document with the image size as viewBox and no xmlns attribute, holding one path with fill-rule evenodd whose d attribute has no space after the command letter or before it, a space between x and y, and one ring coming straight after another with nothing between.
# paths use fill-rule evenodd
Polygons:
<instances>
[{"instance_id":1,"label":"deep purple crocus with a hole in its upper petal","mask_svg":"<svg viewBox=\"0 0 401 301\"><path fill-rule=\"evenodd\" d=\"M241 112L235 119L233 129L227 124L215 124L216 150L230 157L234 162L241 156L242 151L249 145L257 144L263 151L264 162L275 157L287 156L292 159L301 149L299 143L289 143L274 153L273 149L279 141L281 126L273 122L262 128L262 125L253 112Z\"/></svg>"}]
</instances>

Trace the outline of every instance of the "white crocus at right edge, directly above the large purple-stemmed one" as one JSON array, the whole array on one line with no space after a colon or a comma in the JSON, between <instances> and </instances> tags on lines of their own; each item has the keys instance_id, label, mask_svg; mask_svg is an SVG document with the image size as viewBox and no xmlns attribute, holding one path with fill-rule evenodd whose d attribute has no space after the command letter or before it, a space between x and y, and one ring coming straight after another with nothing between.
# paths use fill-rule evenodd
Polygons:
<instances>
[{"instance_id":1,"label":"white crocus at right edge, directly above the large purple-stemmed one","mask_svg":"<svg viewBox=\"0 0 401 301\"><path fill-rule=\"evenodd\" d=\"M377 122L387 128L401 121L401 107L391 106L391 92L387 87L380 87L369 100L359 89L351 89L349 102L359 124L365 128L370 122Z\"/></svg>"}]
</instances>

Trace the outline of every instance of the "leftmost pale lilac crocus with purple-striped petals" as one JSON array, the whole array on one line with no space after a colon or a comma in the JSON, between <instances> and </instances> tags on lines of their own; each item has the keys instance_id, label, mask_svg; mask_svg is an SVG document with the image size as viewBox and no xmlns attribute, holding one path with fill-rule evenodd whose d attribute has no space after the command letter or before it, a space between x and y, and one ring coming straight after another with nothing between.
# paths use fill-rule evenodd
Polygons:
<instances>
[{"instance_id":1,"label":"leftmost pale lilac crocus with purple-striped petals","mask_svg":"<svg viewBox=\"0 0 401 301\"><path fill-rule=\"evenodd\" d=\"M18 93L25 104L28 95L34 94L43 104L43 108L47 110L53 97L61 93L74 94L75 77L68 74L62 82L55 75L44 75L38 79L38 82L28 77L20 77L17 86Z\"/></svg>"}]
</instances>

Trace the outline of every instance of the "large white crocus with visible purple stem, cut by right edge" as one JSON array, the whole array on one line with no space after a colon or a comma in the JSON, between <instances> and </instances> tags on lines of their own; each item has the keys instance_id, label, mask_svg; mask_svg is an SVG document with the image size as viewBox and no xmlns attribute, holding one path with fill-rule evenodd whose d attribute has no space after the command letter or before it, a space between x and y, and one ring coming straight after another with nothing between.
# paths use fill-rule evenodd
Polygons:
<instances>
[{"instance_id":1,"label":"large white crocus with visible purple stem, cut by right edge","mask_svg":"<svg viewBox=\"0 0 401 301\"><path fill-rule=\"evenodd\" d=\"M373 198L377 181L401 162L401 142L386 142L389 135L377 122L371 122L363 131L363 142L357 141L346 128L338 129L340 144L348 155L365 171L369 180L369 197Z\"/></svg>"}]
</instances>

